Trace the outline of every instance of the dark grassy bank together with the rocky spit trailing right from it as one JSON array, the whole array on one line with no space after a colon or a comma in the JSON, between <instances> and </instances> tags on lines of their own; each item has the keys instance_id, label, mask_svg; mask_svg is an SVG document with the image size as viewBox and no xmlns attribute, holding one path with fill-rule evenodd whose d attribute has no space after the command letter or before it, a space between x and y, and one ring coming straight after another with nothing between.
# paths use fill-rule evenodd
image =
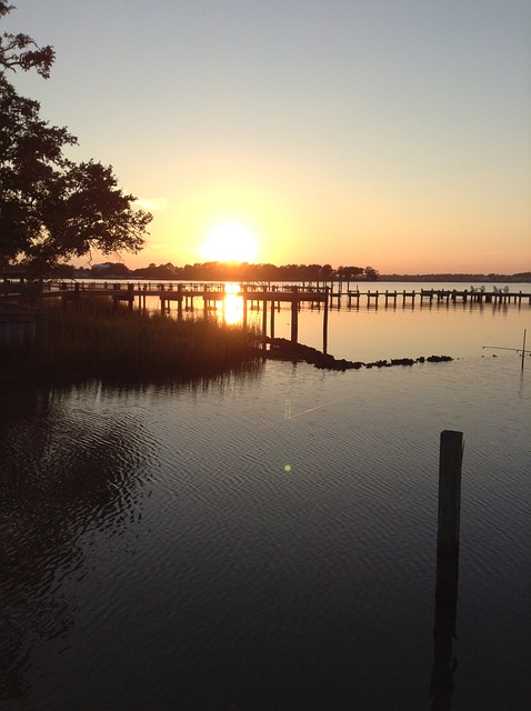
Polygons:
<instances>
[{"instance_id":1,"label":"dark grassy bank together with the rocky spit trailing right from it","mask_svg":"<svg viewBox=\"0 0 531 711\"><path fill-rule=\"evenodd\" d=\"M246 332L241 326L204 318L176 321L160 313L116 308L100 299L68 308L47 304L39 332L31 352L16 347L3 353L7 365L3 377L33 377L39 382L62 383L88 380L177 383L249 372L266 359L307 362L338 371L452 360L448 356L431 356L352 362L280 338L268 338L266 350L261 334L254 330Z\"/></svg>"}]
</instances>

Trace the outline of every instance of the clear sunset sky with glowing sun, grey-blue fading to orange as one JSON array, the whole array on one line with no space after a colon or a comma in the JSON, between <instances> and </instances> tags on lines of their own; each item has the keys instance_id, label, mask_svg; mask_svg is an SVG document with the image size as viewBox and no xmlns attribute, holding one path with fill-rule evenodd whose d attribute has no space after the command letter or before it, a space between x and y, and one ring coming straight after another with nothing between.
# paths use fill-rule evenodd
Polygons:
<instances>
[{"instance_id":1,"label":"clear sunset sky with glowing sun, grey-blue fading to orange","mask_svg":"<svg viewBox=\"0 0 531 711\"><path fill-rule=\"evenodd\" d=\"M153 214L128 267L531 270L529 0L13 2L57 59L11 81Z\"/></svg>"}]
</instances>

